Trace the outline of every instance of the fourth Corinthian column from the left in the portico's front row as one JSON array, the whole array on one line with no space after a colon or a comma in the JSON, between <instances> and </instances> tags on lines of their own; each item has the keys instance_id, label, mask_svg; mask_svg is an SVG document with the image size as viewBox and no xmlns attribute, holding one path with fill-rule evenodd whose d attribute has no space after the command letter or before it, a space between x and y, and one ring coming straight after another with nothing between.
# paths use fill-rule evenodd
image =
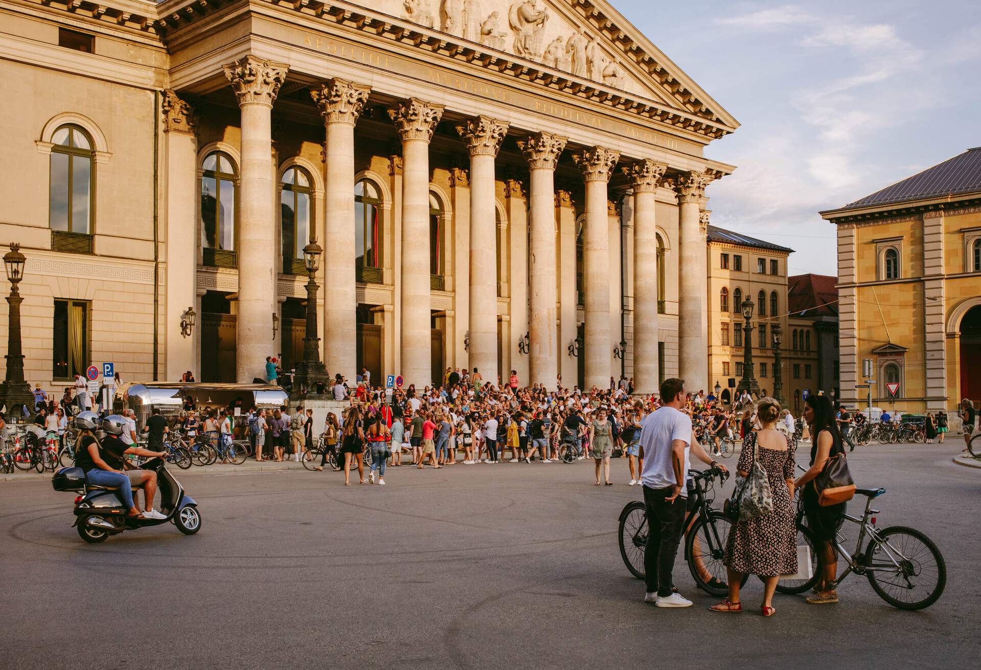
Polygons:
<instances>
[{"instance_id":1,"label":"fourth Corinthian column from the left in the portico's front row","mask_svg":"<svg viewBox=\"0 0 981 670\"><path fill-rule=\"evenodd\" d=\"M456 127L470 152L470 349L469 364L488 381L497 379L497 266L494 157L507 124L477 117Z\"/></svg>"}]
</instances>

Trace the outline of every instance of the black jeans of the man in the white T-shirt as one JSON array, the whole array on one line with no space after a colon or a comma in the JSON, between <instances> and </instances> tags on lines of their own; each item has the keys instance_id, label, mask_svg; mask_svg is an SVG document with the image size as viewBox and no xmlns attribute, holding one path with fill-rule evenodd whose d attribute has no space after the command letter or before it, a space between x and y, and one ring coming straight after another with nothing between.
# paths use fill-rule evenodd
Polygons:
<instances>
[{"instance_id":1,"label":"black jeans of the man in the white T-shirt","mask_svg":"<svg viewBox=\"0 0 981 670\"><path fill-rule=\"evenodd\" d=\"M644 488L644 507L647 514L645 582L647 593L656 592L661 597L671 594L671 573L685 527L687 500L679 495L673 502L665 501L671 491L670 488Z\"/></svg>"}]
</instances>

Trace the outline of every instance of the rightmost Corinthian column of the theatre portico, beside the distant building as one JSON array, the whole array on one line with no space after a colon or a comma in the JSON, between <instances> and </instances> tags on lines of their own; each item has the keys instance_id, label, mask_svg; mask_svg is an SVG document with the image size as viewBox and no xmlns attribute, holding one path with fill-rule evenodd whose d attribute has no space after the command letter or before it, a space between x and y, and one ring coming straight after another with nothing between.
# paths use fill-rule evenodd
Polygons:
<instances>
[{"instance_id":1,"label":"rightmost Corinthian column of the theatre portico, beside the distant building","mask_svg":"<svg viewBox=\"0 0 981 670\"><path fill-rule=\"evenodd\" d=\"M699 221L705 186L712 180L705 173L690 172L678 178L679 245L678 272L678 371L685 387L693 393L708 388L707 274L705 232Z\"/></svg>"}]
</instances>

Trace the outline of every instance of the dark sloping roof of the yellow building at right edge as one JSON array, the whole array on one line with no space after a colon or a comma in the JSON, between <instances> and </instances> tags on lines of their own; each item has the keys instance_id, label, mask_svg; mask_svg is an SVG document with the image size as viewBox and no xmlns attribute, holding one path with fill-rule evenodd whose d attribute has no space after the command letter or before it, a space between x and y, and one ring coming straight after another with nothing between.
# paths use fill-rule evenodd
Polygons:
<instances>
[{"instance_id":1,"label":"dark sloping roof of the yellow building at right edge","mask_svg":"<svg viewBox=\"0 0 981 670\"><path fill-rule=\"evenodd\" d=\"M900 203L971 191L981 191L981 147L968 149L918 175L897 181L871 195L850 202L842 209Z\"/></svg>"}]
</instances>

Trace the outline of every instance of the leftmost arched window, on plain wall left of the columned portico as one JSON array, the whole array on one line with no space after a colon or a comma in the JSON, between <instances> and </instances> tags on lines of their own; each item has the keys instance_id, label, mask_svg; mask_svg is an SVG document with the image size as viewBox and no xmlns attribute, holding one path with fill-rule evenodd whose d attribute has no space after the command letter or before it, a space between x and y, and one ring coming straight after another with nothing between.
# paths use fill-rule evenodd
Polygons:
<instances>
[{"instance_id":1,"label":"leftmost arched window, on plain wall left of the columned portico","mask_svg":"<svg viewBox=\"0 0 981 670\"><path fill-rule=\"evenodd\" d=\"M77 126L62 126L51 136L51 183L48 195L52 231L92 233L92 139Z\"/></svg>"}]
</instances>

